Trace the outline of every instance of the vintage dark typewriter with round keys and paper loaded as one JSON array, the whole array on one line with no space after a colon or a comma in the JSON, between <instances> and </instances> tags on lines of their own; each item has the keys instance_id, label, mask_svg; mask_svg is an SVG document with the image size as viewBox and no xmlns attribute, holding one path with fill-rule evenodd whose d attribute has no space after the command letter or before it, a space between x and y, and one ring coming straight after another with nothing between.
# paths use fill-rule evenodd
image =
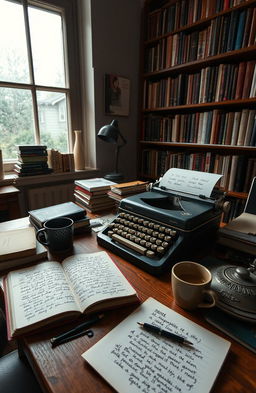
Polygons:
<instances>
[{"instance_id":1,"label":"vintage dark typewriter with round keys and paper loaded","mask_svg":"<svg viewBox=\"0 0 256 393\"><path fill-rule=\"evenodd\" d=\"M224 193L212 187L209 194L209 181L206 188L203 182L212 175L215 184L221 175L177 168L166 174L150 191L121 200L117 216L97 236L101 246L154 275L191 258L205 239L213 242L224 206ZM200 193L205 189L209 196Z\"/></svg>"}]
</instances>

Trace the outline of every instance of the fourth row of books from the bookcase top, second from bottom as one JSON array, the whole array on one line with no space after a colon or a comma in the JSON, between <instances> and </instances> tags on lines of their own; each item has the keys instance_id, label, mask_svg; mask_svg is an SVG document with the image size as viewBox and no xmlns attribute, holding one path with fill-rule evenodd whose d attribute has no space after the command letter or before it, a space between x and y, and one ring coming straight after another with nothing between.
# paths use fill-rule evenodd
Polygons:
<instances>
[{"instance_id":1,"label":"fourth row of books from the bookcase top, second from bottom","mask_svg":"<svg viewBox=\"0 0 256 393\"><path fill-rule=\"evenodd\" d=\"M256 146L256 111L243 109L226 112L146 116L142 139L145 141Z\"/></svg>"}]
</instances>

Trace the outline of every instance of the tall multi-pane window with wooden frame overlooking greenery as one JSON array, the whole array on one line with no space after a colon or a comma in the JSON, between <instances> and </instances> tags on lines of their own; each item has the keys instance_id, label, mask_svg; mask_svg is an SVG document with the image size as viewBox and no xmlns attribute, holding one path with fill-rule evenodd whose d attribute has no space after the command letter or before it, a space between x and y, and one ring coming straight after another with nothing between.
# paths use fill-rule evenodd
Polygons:
<instances>
[{"instance_id":1,"label":"tall multi-pane window with wooden frame overlooking greenery","mask_svg":"<svg viewBox=\"0 0 256 393\"><path fill-rule=\"evenodd\" d=\"M81 128L75 0L0 1L0 147L72 147Z\"/></svg>"}]
</instances>

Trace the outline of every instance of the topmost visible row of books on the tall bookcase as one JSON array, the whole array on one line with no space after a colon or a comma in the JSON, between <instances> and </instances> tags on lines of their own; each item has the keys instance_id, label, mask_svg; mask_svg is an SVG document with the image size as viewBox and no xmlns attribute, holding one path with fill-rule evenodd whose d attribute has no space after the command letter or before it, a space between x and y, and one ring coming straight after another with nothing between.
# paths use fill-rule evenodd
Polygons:
<instances>
[{"instance_id":1,"label":"topmost visible row of books on the tall bookcase","mask_svg":"<svg viewBox=\"0 0 256 393\"><path fill-rule=\"evenodd\" d=\"M148 18L146 39L151 40L163 34L171 33L183 26L191 25L244 0L183 0L167 7L152 11Z\"/></svg>"}]
</instances>

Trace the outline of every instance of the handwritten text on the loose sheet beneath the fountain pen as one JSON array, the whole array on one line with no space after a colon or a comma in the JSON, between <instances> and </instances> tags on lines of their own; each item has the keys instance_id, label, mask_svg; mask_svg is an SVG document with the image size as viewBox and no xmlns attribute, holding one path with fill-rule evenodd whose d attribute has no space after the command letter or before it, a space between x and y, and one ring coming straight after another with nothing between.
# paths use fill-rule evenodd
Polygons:
<instances>
[{"instance_id":1,"label":"handwritten text on the loose sheet beneath the fountain pen","mask_svg":"<svg viewBox=\"0 0 256 393\"><path fill-rule=\"evenodd\" d=\"M201 339L166 320L157 309L148 322L188 338L195 347L172 342L139 328L130 330L125 343L114 345L111 360L128 376L130 386L140 392L193 391L200 378L198 369L202 372L203 364L207 362L207 356L200 350Z\"/></svg>"}]
</instances>

